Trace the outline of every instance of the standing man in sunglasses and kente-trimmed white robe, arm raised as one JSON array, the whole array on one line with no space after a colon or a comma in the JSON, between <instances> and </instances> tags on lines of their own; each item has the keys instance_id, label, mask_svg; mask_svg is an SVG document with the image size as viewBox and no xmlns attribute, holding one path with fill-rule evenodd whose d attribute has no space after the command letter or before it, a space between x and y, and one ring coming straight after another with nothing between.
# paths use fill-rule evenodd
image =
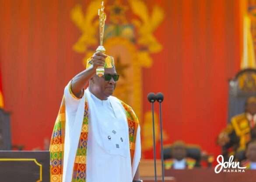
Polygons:
<instances>
[{"instance_id":1,"label":"standing man in sunglasses and kente-trimmed white robe, arm raised","mask_svg":"<svg viewBox=\"0 0 256 182\"><path fill-rule=\"evenodd\" d=\"M132 108L111 96L118 79L113 58L96 52L66 86L51 139L51 182L140 179L140 126Z\"/></svg>"}]
</instances>

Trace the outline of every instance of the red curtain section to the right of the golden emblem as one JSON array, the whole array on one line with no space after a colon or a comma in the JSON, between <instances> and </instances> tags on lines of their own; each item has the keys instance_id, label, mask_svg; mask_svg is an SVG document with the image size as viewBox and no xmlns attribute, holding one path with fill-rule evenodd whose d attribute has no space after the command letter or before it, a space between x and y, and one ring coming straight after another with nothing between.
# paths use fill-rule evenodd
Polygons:
<instances>
[{"instance_id":1,"label":"red curtain section to the right of the golden emblem","mask_svg":"<svg viewBox=\"0 0 256 182\"><path fill-rule=\"evenodd\" d=\"M165 144L182 139L219 155L216 139L227 123L228 79L239 70L241 57L239 3L159 3L166 12L156 33L163 50L153 55L152 68L143 71L143 95L165 94L163 127L170 138ZM146 98L144 110L150 110Z\"/></svg>"}]
</instances>

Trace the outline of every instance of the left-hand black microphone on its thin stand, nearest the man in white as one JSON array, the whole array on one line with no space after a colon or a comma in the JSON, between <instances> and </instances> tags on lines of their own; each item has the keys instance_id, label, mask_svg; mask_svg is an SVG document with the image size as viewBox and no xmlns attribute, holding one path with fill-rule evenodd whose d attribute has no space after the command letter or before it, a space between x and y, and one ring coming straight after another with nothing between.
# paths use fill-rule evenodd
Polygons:
<instances>
[{"instance_id":1,"label":"left-hand black microphone on its thin stand, nearest the man in white","mask_svg":"<svg viewBox=\"0 0 256 182\"><path fill-rule=\"evenodd\" d=\"M156 100L156 96L153 92L147 94L147 100L151 103L152 110L152 121L153 121L153 145L154 145L154 182L157 182L157 173L156 173L156 148L155 148L155 132L154 132L154 102Z\"/></svg>"}]
</instances>

